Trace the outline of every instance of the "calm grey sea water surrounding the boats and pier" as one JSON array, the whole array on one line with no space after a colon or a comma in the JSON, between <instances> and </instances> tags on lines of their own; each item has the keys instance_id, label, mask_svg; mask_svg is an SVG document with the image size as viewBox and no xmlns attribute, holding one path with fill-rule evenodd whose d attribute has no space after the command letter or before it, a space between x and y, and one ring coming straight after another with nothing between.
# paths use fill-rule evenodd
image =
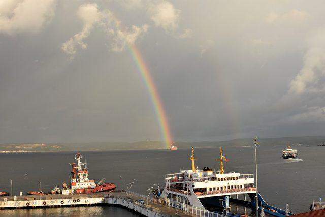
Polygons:
<instances>
[{"instance_id":1,"label":"calm grey sea water surrounding the boats and pier","mask_svg":"<svg viewBox=\"0 0 325 217\"><path fill-rule=\"evenodd\" d=\"M258 147L258 190L267 203L284 209L289 204L294 213L308 211L312 200L325 196L323 188L325 147L293 146L299 150L299 159L281 158L281 146ZM141 150L141 151L87 151L89 177L100 181L114 182L119 189L125 189L129 182L135 182L132 191L145 194L146 190L159 184L164 186L165 174L190 169L190 149ZM242 174L254 173L253 147L225 147L229 158L226 171ZM0 191L37 191L41 181L42 191L48 191L57 184L70 182L69 163L74 162L74 152L7 153L0 154ZM84 155L84 152L82 152ZM197 166L218 169L215 159L218 148L197 148ZM2 216L133 216L127 210L117 207L74 207L54 209L0 210Z\"/></svg>"}]
</instances>

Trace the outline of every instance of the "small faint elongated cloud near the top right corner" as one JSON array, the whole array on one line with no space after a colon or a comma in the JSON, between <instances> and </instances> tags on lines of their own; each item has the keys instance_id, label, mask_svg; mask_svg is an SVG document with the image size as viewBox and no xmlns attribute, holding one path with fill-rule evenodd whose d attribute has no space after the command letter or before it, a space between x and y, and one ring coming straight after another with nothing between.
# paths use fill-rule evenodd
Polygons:
<instances>
[{"instance_id":1,"label":"small faint elongated cloud near the top right corner","mask_svg":"<svg viewBox=\"0 0 325 217\"><path fill-rule=\"evenodd\" d=\"M293 22L301 22L308 17L308 14L305 11L300 11L297 9L293 9L288 13L284 14L276 14L270 13L266 18L265 21L271 24L283 21L293 21Z\"/></svg>"}]
</instances>

